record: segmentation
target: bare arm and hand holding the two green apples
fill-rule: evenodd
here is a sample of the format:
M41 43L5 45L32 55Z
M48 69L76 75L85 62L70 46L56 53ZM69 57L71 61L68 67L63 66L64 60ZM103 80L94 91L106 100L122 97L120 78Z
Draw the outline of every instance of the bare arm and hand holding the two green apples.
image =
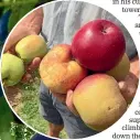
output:
M28 17L25 17L12 31L8 41L4 45L4 52L15 54L14 46L15 44L26 35L39 34L42 29L43 22L43 9L39 8ZM29 82L32 76L31 73L39 67L41 63L40 57L35 57L30 64L25 65L25 75L23 76L22 82Z

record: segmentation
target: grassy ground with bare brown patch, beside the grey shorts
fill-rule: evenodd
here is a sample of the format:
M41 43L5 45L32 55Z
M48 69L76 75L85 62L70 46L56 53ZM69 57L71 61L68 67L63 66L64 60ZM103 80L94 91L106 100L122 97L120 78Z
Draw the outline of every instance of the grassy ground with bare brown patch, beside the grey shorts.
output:
M35 73L34 78L28 84L19 84L17 87L10 87L10 91L6 89L7 97L24 122L35 130L46 133L49 123L39 112L39 86L40 76ZM67 138L65 130L61 132L61 138Z

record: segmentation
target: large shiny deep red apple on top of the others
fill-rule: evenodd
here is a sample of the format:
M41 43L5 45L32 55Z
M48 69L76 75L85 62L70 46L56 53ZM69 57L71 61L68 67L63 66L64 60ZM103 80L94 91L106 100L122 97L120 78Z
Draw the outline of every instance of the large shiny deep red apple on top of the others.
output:
M72 42L73 56L95 72L111 69L126 50L121 30L110 21L95 20L82 26Z

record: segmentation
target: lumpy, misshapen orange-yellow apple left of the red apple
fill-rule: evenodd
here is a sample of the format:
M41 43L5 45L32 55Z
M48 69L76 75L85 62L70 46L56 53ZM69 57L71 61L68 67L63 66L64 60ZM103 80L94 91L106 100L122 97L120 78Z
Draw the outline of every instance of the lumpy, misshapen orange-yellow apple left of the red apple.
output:
M73 61L69 45L58 44L43 57L40 76L52 93L66 94L87 76L87 71Z

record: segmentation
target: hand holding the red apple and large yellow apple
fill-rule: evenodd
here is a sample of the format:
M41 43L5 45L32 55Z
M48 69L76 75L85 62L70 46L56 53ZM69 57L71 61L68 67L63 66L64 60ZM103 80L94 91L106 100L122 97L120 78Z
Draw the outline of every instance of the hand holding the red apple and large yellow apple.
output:
M136 95L139 78L139 58L136 57L130 63L130 73L123 82L119 82L119 88L126 101L130 104ZM73 104L73 90L68 90L66 95L53 94L62 103L66 104L68 109L75 115L79 116Z

